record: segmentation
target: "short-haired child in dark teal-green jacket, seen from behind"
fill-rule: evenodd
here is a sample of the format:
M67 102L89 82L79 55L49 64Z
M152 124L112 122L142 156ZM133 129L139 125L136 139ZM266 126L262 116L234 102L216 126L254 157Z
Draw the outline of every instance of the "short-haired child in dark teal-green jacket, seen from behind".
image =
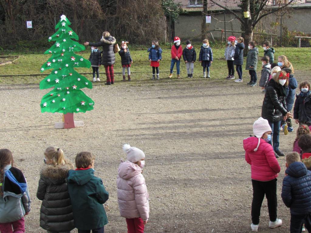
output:
M67 175L68 192L72 204L75 226L79 233L104 232L108 223L103 204L109 194L103 181L94 176L95 156L90 152L77 154L76 170L69 170Z

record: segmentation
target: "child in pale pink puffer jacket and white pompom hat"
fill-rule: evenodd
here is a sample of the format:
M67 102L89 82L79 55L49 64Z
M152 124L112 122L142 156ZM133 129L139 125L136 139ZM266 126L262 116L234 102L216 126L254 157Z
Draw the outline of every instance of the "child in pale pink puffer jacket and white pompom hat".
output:
M149 195L142 168L145 154L142 150L123 145L128 161L118 168L117 194L120 215L126 218L128 233L144 233L149 218Z

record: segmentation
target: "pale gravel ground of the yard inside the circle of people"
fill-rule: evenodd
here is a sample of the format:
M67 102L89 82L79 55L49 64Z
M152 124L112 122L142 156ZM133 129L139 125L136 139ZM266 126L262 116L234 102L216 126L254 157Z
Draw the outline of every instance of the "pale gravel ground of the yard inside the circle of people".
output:
M253 121L261 115L261 89L246 86L246 80L174 85L160 80L149 86L127 82L83 91L95 101L93 111L75 114L75 120L84 121L84 128L55 130L61 114L40 112L47 90L37 85L0 87L0 144L12 150L32 199L26 232L45 232L39 227L41 202L35 195L44 149L53 144L71 161L80 151L95 154L95 175L109 191L105 232L127 232L116 196L119 161L126 158L123 143L146 154L143 175L150 194L146 233L250 232L252 185L242 140L252 133ZM290 152L294 139L294 133L281 133L280 148ZM278 217L283 225L268 228L265 200L260 232L289 232L290 212L281 200L285 158L278 160Z

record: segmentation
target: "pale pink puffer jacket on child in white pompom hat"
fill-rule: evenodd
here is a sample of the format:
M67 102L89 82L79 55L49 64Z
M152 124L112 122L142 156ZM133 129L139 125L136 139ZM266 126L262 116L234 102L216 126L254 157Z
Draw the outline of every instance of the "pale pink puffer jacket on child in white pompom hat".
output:
M149 218L149 195L142 169L129 161L118 168L117 195L120 215L125 218Z

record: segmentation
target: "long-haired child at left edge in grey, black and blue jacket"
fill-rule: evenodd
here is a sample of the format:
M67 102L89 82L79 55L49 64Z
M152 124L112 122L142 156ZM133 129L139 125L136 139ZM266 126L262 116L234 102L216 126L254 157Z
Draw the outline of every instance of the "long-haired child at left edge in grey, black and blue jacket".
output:
M30 212L25 176L13 165L12 152L0 149L0 231L3 233L25 232L24 216Z

